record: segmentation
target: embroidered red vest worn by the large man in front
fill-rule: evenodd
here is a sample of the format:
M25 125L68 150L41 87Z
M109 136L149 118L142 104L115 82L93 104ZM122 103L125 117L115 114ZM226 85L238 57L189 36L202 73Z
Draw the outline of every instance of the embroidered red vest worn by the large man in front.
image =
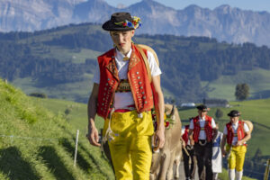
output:
M132 53L128 69L128 80L131 93L138 112L149 111L153 107L153 94L148 79L148 72L139 50L132 43ZM143 49L147 54L147 50ZM105 52L97 58L100 68L100 83L98 91L97 114L104 119L112 107L112 100L120 83L118 70L114 58L114 49Z

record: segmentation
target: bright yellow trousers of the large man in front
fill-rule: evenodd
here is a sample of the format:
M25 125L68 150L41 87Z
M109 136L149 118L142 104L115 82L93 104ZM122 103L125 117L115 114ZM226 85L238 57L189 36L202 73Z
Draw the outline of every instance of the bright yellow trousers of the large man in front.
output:
M109 120L103 127L103 136ZM113 112L109 141L112 164L117 180L148 180L152 161L151 136L154 133L151 112Z

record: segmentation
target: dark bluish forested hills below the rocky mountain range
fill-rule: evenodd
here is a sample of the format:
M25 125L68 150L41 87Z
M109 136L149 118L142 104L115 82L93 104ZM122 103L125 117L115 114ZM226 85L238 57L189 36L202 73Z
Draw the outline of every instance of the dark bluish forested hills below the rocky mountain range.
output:
M270 49L253 43L233 44L206 37L135 35L135 43L157 51L163 72L161 83L177 102L199 102L207 94L201 81L213 81L241 70L270 69ZM59 59L53 49L81 52L91 49L102 54L112 49L109 34L94 23L70 24L46 31L0 33L0 76L13 81L31 76L38 86L84 80L93 74L95 58L84 62ZM90 56L89 56L90 57Z

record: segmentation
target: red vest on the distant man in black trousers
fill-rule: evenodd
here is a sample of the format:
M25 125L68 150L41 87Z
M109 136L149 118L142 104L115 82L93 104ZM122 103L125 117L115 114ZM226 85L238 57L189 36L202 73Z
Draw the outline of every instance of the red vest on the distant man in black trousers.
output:
M196 116L193 119L193 140L195 142L199 141L199 135L200 135L200 121L199 121L199 116ZM211 128L211 117L208 115L205 115L205 124L204 124L204 130L205 130L205 134L206 134L206 139L208 142L211 141L212 138L212 128Z

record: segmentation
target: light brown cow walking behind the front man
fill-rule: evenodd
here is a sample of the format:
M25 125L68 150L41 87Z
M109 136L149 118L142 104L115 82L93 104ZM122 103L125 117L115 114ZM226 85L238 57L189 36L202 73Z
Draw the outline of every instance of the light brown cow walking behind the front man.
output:
M171 104L165 104L166 116L174 120L174 124L165 130L165 145L159 153L153 153L150 180L171 180L179 178L179 166L182 157L181 120L177 108Z

